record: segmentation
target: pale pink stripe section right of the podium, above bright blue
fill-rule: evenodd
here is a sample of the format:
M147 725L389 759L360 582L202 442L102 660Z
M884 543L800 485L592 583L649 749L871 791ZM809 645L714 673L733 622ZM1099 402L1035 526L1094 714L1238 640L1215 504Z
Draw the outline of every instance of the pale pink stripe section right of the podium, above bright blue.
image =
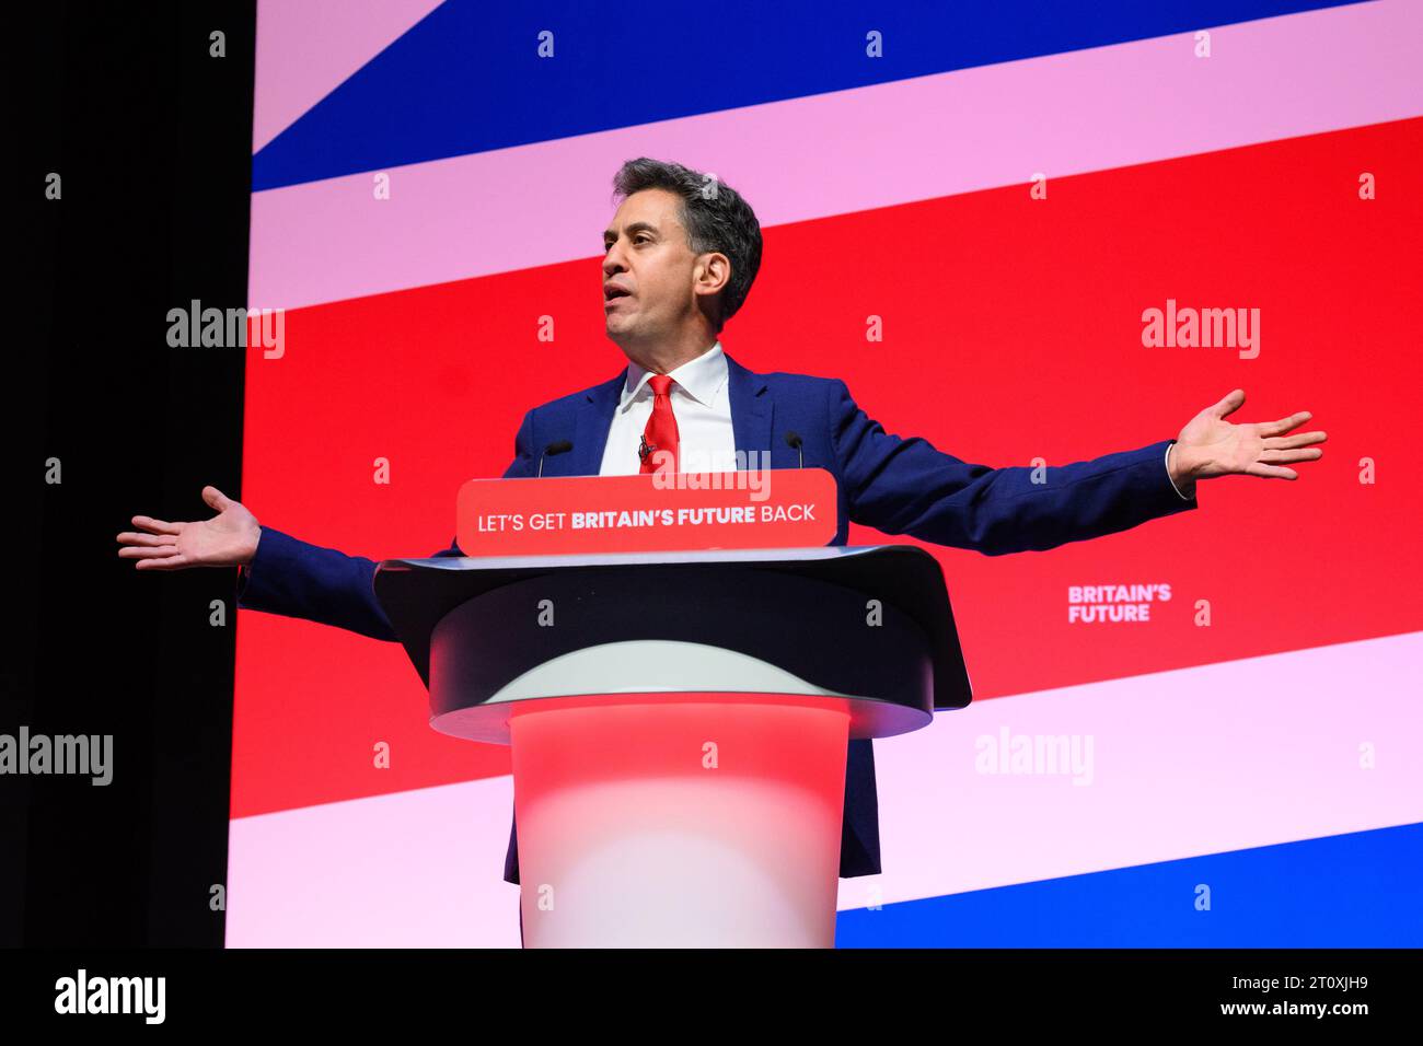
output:
M1420 662L1413 632L941 713L875 743L884 874L840 907L1423 821ZM978 773L1003 727L1090 734L1091 783Z

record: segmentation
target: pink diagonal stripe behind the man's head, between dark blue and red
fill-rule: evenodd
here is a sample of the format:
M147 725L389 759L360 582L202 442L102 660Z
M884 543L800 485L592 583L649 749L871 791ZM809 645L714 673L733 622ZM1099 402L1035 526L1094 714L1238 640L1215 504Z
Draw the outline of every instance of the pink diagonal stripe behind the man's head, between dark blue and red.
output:
M1423 4L1387 0L270 189L253 307L295 309L598 253L623 159L676 158L763 225L1423 114Z

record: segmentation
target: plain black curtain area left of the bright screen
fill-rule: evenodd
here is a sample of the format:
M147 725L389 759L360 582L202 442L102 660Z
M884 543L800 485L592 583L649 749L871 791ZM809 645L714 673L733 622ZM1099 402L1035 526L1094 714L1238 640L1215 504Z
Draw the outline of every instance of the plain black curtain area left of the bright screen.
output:
M112 783L0 776L0 942L221 946L235 572L135 572L114 535L242 497L243 350L171 349L166 315L246 305L255 3L10 14L0 733L111 734Z

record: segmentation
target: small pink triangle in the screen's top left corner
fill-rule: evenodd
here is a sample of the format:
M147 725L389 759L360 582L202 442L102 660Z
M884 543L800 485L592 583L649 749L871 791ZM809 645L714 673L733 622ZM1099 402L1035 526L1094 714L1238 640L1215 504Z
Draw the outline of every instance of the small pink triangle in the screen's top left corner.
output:
M252 151L438 7L441 0L260 0Z

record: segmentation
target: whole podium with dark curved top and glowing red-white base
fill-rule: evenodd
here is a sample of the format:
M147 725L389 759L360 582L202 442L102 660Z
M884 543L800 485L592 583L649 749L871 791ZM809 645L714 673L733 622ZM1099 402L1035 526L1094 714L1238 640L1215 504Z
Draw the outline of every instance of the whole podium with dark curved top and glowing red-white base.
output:
M391 559L374 588L431 726L512 747L525 946L832 946L847 743L972 694L915 545Z

